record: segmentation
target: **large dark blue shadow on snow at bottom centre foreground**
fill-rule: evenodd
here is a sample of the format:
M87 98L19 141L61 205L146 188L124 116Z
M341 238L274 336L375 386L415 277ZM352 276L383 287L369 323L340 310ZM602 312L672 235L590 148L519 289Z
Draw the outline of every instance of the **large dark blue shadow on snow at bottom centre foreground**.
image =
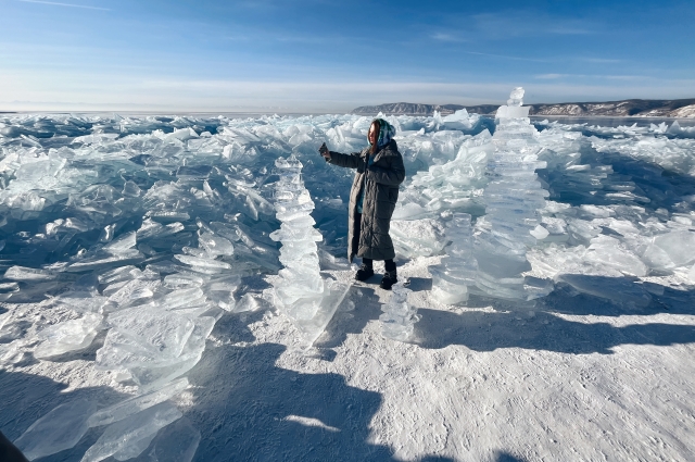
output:
M189 374L201 432L195 461L389 461L368 441L381 405L378 392L351 387L338 374L278 367L277 344L208 348Z

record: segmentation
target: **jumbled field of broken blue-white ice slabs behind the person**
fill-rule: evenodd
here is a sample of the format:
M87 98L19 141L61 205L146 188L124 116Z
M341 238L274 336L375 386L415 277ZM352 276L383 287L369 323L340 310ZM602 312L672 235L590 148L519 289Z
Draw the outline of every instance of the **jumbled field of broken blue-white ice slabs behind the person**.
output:
M489 164L494 137L504 137L510 147L533 140L536 164L520 172L538 175L549 195L522 226L533 232L525 236L525 291L555 284L644 307L655 290L645 277L695 284L692 127L544 121L516 126L521 133L465 111L387 118L408 175L394 213L399 258L446 253L442 274L465 279L466 241L454 240L469 232L451 225L467 213L482 232L500 217L489 205L508 200L508 190L491 196ZM33 358L72 360L91 347L93 366L134 390L109 405L72 402L38 415L20 446L52 453L93 425L106 437L89 458L131 457L114 446L121 436L132 438L129 448L147 442L169 459L176 455L167 448L185 453L180 460L192 457L200 435L184 420L154 437L178 416L161 405L185 389L216 320L258 307L248 294L237 304L241 278L283 266L269 237L280 228L275 161L293 154L303 164L323 236L317 259L339 265L352 172L327 165L316 148L326 140L331 150L359 150L369 123L356 115L0 117L0 363L11 370ZM465 299L452 295L458 299L441 301ZM41 303L41 315L29 302ZM75 432L61 433L62 420ZM180 448L166 444L179 434Z

